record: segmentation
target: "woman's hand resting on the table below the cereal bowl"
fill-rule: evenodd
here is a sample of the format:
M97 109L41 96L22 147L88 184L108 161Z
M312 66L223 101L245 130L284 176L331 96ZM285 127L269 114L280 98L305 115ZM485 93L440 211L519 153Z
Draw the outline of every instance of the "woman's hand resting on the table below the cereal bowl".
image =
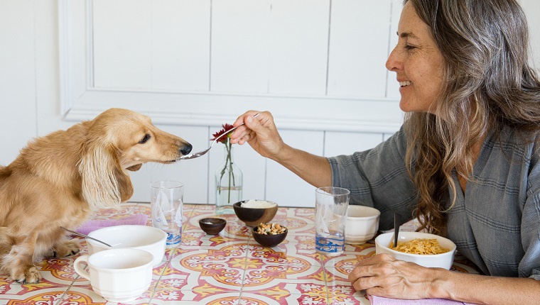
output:
M349 280L355 289L366 289L367 294L393 299L426 299L437 297L433 296L432 285L439 272L448 270L426 268L379 254L360 260L350 272Z

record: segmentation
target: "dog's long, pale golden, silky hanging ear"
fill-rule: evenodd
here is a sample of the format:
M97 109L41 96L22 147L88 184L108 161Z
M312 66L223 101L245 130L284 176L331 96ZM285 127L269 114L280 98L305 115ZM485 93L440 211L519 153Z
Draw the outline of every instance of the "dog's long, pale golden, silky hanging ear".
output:
M111 143L86 143L79 172L82 196L92 209L118 207L133 195L129 174L120 166L118 149Z

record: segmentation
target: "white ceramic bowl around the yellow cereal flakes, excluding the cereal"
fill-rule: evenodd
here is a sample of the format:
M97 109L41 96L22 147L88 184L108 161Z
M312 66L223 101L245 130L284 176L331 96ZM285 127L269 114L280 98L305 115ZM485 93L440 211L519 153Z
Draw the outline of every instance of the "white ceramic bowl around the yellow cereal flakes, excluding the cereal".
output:
M442 254L420 255L392 250L388 248L388 245L390 244L390 242L394 242L394 232L389 232L381 234L377 236L377 238L375 238L375 253L387 253L389 255L392 255L392 257L395 257L397 260L415 262L416 264L423 267L439 267L447 270L452 267L455 254L455 243L453 243L452 240L449 240L448 238L443 238L435 234L423 232L399 232L398 234L398 241L402 243L413 240L414 238L436 238L441 247L447 248L450 251Z

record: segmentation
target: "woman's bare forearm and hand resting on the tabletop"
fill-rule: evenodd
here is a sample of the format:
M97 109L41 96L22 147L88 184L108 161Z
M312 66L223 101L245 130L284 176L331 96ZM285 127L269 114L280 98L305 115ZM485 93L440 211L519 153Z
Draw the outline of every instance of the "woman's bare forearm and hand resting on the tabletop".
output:
M349 280L357 290L393 299L441 298L474 304L538 304L540 282L426 268L375 255L358 262Z

